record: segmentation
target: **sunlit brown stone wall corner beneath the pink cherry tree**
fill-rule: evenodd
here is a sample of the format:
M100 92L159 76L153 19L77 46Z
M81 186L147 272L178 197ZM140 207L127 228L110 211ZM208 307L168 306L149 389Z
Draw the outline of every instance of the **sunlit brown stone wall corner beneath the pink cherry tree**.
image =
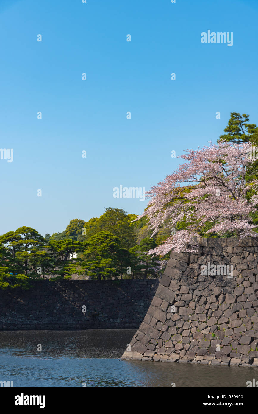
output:
M196 242L196 254L170 254L122 359L258 366L258 238Z

